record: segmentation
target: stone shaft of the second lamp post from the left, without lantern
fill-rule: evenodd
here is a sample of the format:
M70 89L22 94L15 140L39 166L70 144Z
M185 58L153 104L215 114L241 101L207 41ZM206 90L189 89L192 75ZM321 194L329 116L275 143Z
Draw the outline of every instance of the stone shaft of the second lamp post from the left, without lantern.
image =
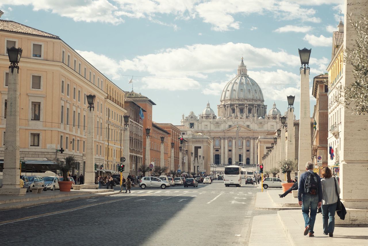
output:
M93 189L98 187L95 184L95 109L87 109L87 132L86 132L86 166L84 185L82 188Z

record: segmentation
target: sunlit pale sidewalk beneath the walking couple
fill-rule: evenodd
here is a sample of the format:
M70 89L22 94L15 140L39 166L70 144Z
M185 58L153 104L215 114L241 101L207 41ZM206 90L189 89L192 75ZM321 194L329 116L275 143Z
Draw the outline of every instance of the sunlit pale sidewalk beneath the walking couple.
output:
M291 246L368 246L367 227L335 226L333 237L323 234L322 214L317 214L314 224L314 237L304 236L304 219L301 210L278 211L277 216ZM335 216L338 218L338 216Z

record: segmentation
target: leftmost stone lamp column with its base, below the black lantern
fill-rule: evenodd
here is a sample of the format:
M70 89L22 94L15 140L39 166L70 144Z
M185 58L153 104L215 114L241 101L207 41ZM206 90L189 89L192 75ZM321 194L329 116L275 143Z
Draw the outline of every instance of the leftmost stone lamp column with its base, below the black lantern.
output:
M25 195L26 189L19 187L19 84L18 69L9 68L7 119L4 138L3 188L0 195Z

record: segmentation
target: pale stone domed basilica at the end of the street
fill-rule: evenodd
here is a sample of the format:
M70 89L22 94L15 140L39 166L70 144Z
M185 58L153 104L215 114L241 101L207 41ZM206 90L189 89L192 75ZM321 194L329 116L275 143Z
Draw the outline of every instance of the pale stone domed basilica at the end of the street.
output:
M281 127L281 112L273 104L267 111L259 85L248 76L241 58L237 75L224 87L217 105L217 115L208 102L198 116L192 111L182 116L183 137L206 136L210 139L208 164L257 164L259 136L274 134ZM184 131L187 129L187 131ZM201 159L201 149L189 142L194 162Z

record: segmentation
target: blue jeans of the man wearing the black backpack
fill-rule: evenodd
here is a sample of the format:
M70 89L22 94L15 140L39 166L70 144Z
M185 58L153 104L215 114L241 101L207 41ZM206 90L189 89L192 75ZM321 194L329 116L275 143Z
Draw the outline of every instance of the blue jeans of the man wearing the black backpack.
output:
M316 221L317 207L318 207L318 195L302 195L302 206L301 210L303 212L303 217L305 221L305 226L310 225L309 232L314 233L313 227ZM309 216L310 209L310 216Z

